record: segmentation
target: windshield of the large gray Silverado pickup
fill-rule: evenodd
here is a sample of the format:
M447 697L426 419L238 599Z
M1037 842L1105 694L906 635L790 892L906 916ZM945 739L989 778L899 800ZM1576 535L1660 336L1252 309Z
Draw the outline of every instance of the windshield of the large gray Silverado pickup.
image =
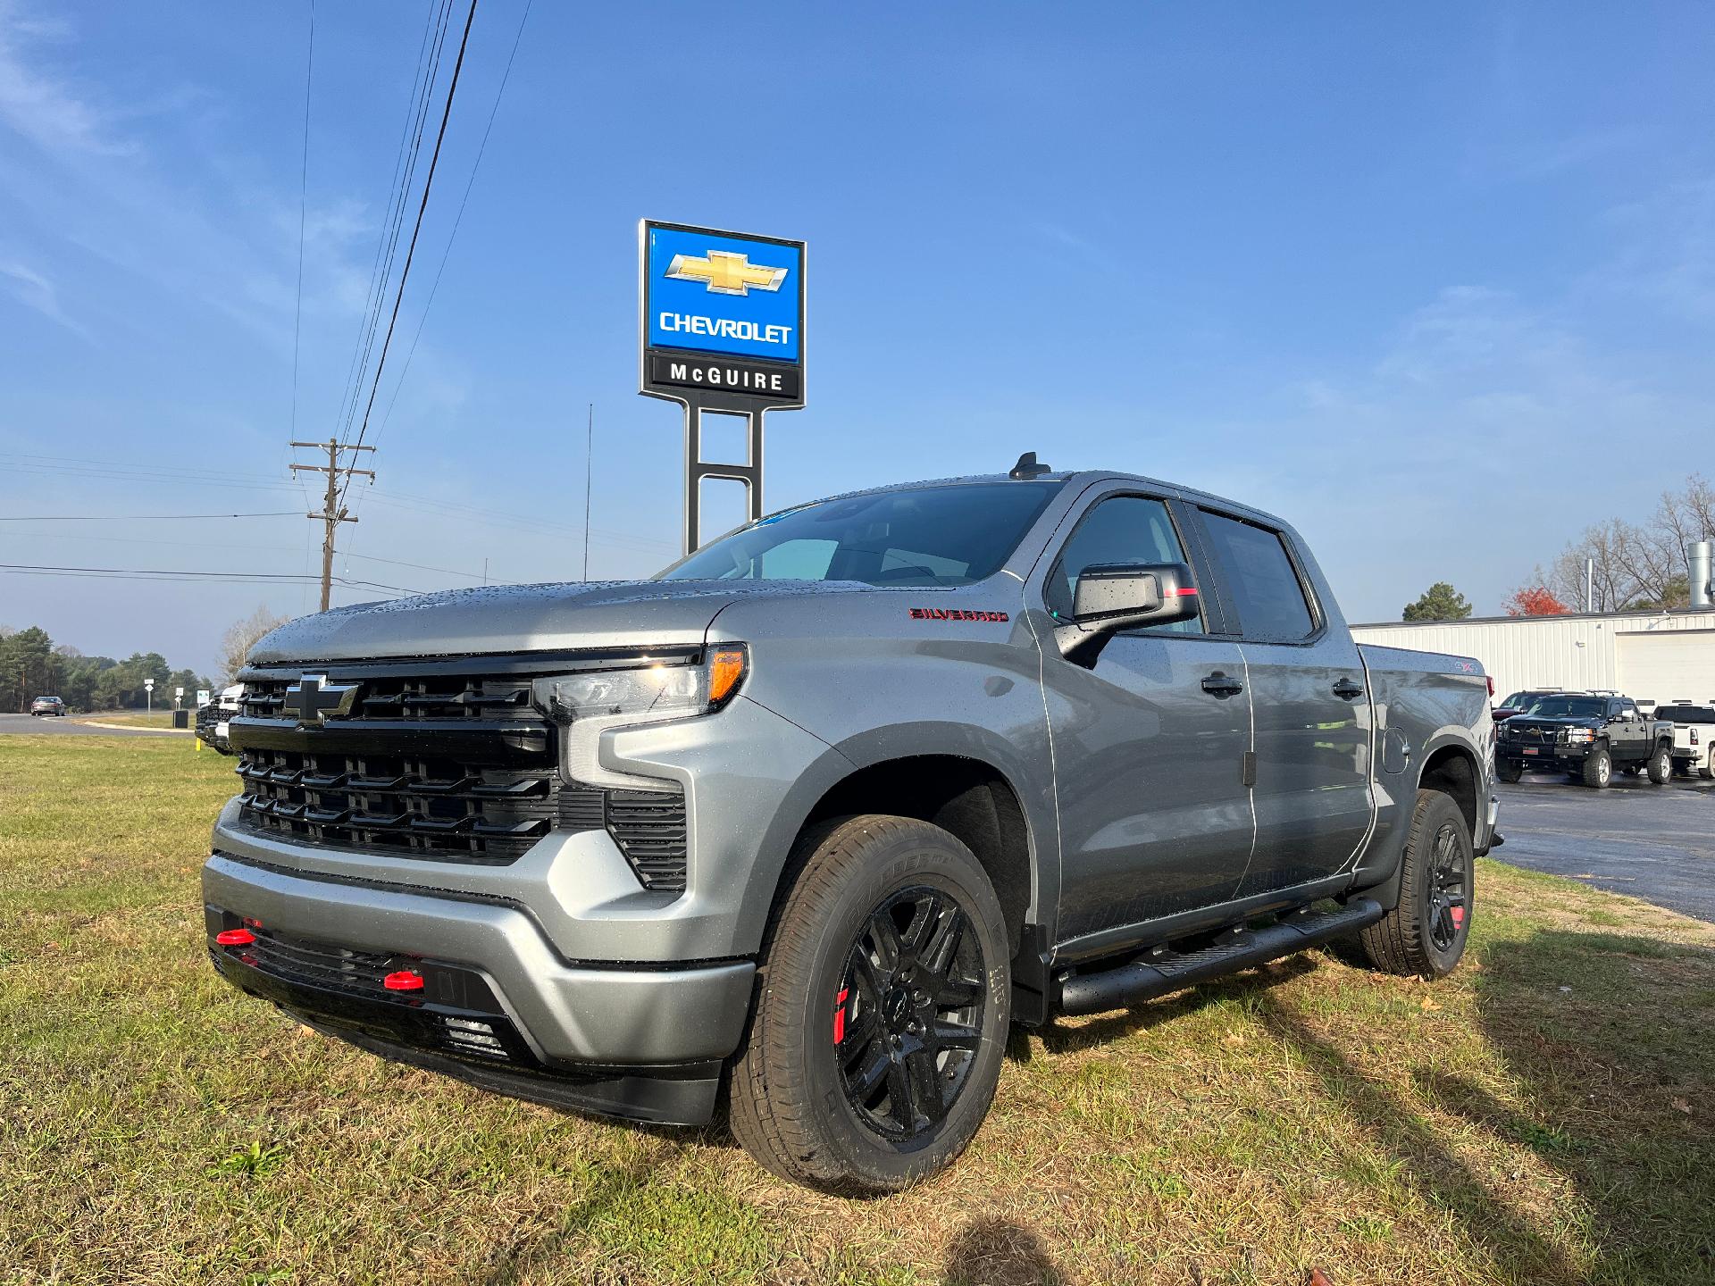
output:
M971 482L816 501L729 532L655 580L972 585L993 576L1060 482Z

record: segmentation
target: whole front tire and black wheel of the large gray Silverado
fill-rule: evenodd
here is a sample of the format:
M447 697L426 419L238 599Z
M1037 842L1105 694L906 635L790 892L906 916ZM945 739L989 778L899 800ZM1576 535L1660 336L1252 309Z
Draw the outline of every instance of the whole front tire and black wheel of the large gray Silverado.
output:
M899 1192L988 1115L1012 1019L1000 900L940 826L866 814L811 835L763 940L732 1133L827 1192Z

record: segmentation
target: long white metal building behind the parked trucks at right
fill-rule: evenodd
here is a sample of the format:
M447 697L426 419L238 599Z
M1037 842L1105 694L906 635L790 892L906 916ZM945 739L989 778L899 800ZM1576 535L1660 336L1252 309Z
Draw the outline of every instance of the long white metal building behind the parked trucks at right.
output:
M1640 705L1715 705L1715 612L1497 616L1353 626L1360 643L1475 657L1495 696L1519 688L1610 688Z

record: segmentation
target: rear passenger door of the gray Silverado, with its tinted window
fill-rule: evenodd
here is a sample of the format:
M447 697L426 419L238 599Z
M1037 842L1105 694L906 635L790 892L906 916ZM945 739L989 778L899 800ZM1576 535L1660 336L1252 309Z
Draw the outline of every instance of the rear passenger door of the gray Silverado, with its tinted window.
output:
M1240 897L1346 868L1374 816L1370 706L1358 645L1331 629L1291 540L1252 518L1197 511L1237 617L1255 720L1255 856Z

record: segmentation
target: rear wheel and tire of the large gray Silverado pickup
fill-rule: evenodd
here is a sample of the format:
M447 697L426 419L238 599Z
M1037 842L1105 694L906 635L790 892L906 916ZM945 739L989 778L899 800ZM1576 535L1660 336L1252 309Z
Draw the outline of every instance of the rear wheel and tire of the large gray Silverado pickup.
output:
M1446 977L1471 931L1477 864L1470 825L1453 796L1417 792L1399 862L1399 902L1358 933L1358 945L1384 974Z

